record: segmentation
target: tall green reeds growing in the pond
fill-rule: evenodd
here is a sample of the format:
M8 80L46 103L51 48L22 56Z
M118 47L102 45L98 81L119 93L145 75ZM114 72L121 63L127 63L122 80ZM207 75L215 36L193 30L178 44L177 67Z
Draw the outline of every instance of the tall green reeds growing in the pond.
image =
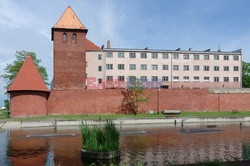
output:
M120 134L111 120L107 120L104 128L87 124L81 126L82 148L93 152L109 152L119 149Z

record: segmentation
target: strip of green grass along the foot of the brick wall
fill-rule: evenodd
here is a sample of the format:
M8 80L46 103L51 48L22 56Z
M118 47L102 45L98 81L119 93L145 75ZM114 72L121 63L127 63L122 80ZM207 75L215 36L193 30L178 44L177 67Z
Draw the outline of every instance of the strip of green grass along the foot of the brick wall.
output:
M199 118L218 118L218 117L250 117L249 112L182 112L178 117L199 117ZM31 118L7 118L7 114L3 113L0 115L0 120L8 121L36 121L36 120L105 120L105 119L158 119L166 118L162 114L106 114L106 115L48 115L40 117L31 117Z

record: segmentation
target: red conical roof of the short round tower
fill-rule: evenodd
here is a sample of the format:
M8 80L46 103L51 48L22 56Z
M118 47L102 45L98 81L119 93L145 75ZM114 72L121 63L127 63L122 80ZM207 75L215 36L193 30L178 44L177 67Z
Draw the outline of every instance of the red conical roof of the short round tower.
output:
M16 78L10 85L8 92L11 91L44 91L49 92L42 76L38 72L33 60L27 57Z

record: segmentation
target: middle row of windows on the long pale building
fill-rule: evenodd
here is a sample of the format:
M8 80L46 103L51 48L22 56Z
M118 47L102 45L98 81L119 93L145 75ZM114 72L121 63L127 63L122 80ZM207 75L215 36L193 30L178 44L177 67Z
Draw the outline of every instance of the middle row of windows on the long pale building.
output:
M158 70L159 65L151 65L152 70ZM124 64L118 64L117 65L118 70L125 70L125 65ZM224 71L229 71L229 66L223 66ZM107 70L113 70L113 64L106 64L106 69ZM141 70L147 70L147 65L146 64L141 64L140 65ZM162 70L168 70L168 65L162 65ZM179 65L173 65L173 70L178 71L180 69ZM136 70L136 64L129 64L129 70ZM189 71L190 67L189 65L184 65L183 66L184 71ZM200 66L199 65L194 65L193 66L194 71L200 71ZM204 71L209 71L210 66L203 66ZM214 71L220 71L220 66L213 66ZM98 66L98 71L102 71L102 66ZM239 71L239 66L233 66L233 71Z

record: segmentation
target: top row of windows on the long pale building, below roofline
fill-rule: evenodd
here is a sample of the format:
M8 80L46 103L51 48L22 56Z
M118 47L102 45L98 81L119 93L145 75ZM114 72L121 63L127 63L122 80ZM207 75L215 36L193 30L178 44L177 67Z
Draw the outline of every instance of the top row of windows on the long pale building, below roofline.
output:
M125 57L124 52L118 52L117 56L118 56L118 58L124 58ZM212 55L203 55L203 59L204 60L209 60L211 56ZM147 53L146 52L141 52L140 57L141 58L147 58ZM175 53L173 54L173 59L179 59L179 57L180 57L179 54L175 54ZM201 59L200 57L201 57L201 55L199 55L199 54L194 54L193 55L194 60L200 60ZM107 52L107 58L113 58L113 52ZM130 52L129 53L129 58L136 58L136 53L135 52ZM151 53L151 58L152 59L158 59L158 53ZM98 59L99 60L102 59L101 55L98 56ZM162 53L162 59L169 59L168 53ZM189 60L190 55L189 54L184 54L183 59ZM213 59L214 60L220 60L220 56L219 55L213 55ZM223 60L229 60L229 55L224 55ZM238 61L239 56L234 55L233 60Z

